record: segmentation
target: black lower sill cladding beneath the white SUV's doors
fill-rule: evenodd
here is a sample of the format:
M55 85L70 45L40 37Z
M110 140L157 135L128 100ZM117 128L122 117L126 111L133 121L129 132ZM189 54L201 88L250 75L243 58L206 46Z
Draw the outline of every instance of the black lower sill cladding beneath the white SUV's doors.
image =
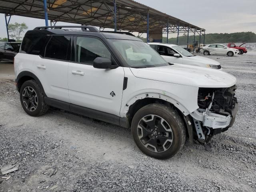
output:
M73 112L73 113L80 114L80 115L83 115L86 117L98 119L98 120L112 123L115 125L119 125L122 127L128 127L128 125L129 125L127 119L120 118L119 116L116 116L113 114L109 114L109 113L101 112L98 110L70 104L67 102L63 102L63 101L48 98L48 97L45 97L44 99L45 99L46 104L49 106L52 106L52 107L56 107L59 109L63 109L63 110L69 111L69 112Z

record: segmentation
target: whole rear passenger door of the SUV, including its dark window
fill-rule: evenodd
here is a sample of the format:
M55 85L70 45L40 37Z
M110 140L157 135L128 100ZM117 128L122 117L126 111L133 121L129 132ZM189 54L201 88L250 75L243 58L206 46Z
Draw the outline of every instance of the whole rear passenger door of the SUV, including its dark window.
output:
M44 92L49 98L69 102L68 64L71 50L70 36L50 36L42 57L34 66Z

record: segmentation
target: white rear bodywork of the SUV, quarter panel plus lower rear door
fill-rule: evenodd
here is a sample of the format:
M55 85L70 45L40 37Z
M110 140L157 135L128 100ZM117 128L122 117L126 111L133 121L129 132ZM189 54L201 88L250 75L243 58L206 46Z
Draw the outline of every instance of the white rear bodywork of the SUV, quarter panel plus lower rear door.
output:
M38 77L49 98L70 102L68 97L68 62L41 58L38 55L18 53L14 65L16 77L22 71Z

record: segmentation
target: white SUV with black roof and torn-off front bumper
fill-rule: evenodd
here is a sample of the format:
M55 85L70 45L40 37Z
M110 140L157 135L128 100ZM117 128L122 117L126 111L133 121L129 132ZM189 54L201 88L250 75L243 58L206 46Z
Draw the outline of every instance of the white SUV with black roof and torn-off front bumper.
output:
M162 159L186 138L205 143L234 123L234 76L170 65L132 35L80 28L38 27L24 36L14 70L29 115L54 106L131 127L140 150Z

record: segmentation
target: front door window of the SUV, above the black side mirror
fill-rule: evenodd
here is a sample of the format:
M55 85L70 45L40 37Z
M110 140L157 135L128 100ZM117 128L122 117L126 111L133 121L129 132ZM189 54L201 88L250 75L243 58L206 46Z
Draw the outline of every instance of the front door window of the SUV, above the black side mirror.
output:
M76 62L93 64L93 60L97 57L107 57L111 59L111 54L99 39L77 37Z

